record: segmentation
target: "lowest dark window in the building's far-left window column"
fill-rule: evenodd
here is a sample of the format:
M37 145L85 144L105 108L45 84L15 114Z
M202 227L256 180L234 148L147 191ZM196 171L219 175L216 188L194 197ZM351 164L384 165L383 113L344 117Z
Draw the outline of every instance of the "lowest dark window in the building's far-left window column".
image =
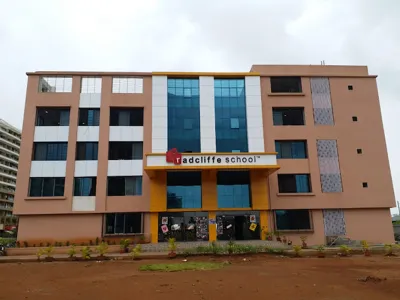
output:
M42 178L32 177L29 182L30 197L61 197L64 196L64 177Z

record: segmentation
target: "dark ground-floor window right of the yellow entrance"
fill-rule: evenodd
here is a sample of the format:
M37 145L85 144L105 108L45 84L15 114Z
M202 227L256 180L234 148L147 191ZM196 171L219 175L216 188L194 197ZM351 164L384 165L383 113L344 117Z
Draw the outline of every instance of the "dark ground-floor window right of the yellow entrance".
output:
M308 209L275 211L275 228L281 230L312 230L311 215Z

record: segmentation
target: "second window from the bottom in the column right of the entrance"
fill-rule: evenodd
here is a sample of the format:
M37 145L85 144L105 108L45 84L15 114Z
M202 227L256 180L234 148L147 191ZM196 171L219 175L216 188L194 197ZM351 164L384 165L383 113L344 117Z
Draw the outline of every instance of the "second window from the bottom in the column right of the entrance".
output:
M278 174L279 193L310 193L309 174Z

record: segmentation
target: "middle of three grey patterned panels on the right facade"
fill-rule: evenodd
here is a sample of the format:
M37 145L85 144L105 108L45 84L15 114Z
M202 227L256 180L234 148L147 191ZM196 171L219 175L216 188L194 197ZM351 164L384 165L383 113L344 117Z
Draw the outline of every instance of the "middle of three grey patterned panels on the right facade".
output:
M317 140L317 153L322 192L342 192L342 176L336 140Z

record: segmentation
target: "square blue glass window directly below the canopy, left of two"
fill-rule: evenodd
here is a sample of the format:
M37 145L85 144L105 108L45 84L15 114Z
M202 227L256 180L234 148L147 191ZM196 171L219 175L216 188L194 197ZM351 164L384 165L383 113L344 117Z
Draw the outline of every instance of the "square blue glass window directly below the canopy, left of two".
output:
M167 173L167 208L201 208L201 172Z

